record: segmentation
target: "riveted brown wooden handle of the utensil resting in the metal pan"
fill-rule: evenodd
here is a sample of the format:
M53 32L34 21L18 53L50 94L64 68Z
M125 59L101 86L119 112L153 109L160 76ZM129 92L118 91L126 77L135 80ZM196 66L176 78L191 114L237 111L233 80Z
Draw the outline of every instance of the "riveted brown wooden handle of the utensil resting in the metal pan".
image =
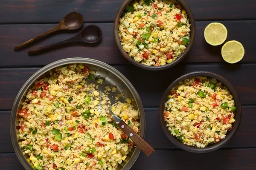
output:
M146 154L150 156L155 150L147 142L144 141L132 128L124 121L119 122L118 127Z

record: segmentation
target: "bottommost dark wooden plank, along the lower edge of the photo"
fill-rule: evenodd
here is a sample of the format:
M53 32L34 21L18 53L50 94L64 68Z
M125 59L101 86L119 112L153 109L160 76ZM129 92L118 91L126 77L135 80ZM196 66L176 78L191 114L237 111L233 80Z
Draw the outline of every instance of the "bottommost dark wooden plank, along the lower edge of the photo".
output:
M256 149L217 150L189 153L184 150L157 150L150 157L142 152L131 170L255 170ZM207 158L207 159L206 159ZM1 170L25 170L15 153L0 154Z

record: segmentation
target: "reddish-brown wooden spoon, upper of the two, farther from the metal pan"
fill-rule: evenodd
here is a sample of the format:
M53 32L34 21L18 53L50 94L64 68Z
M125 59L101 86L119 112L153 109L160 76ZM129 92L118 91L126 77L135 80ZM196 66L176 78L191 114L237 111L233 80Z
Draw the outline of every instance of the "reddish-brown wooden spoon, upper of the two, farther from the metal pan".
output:
M20 48L28 45L31 42L34 42L35 40L38 40L39 38L42 38L52 32L58 31L58 30L74 30L80 28L84 24L84 18L83 16L76 11L68 13L60 23L58 23L57 26L53 27L52 29L38 35L35 38L32 38L31 40L28 40L24 42L23 44L18 45L14 48L14 51L19 50Z

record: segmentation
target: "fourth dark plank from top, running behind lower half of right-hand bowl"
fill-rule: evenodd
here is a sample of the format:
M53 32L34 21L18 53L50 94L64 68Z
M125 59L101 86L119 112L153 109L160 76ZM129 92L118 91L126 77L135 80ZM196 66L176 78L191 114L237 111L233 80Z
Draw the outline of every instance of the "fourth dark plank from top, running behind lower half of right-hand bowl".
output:
M256 147L256 106L242 107L242 121L236 135L228 142L224 148L248 148ZM13 153L11 137L9 135L10 111L0 111L0 153ZM154 149L177 149L160 126L158 108L145 108L146 115L146 134L145 141ZM143 154L143 153L142 153ZM154 155L154 153L152 154Z

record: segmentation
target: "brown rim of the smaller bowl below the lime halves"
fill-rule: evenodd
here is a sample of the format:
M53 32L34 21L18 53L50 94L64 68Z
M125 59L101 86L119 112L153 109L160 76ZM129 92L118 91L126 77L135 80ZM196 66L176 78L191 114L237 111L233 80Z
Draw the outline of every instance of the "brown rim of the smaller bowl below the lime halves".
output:
M172 88L174 88L175 85L177 85L177 83L183 81L184 79L194 77L194 76L207 76L207 77L212 77L212 78L217 79L218 82L221 82L223 85L225 85L228 88L230 93L233 95L233 100L236 103L236 114L235 114L236 122L233 124L232 130L230 130L228 132L227 136L224 139L222 139L220 142L218 142L216 144L208 145L207 147L204 147L204 148L192 147L192 146L188 146L186 144L181 143L175 136L173 136L169 132L168 128L166 127L166 122L164 121L164 116L163 116L164 103L166 101L166 98L167 98L169 92L172 90ZM239 128L239 125L240 125L240 122L241 122L241 117L242 117L241 102L240 102L238 94L236 93L236 90L233 88L233 85L231 85L230 82L228 82L227 79L225 79L224 77L222 77L218 74L215 74L213 72L209 72L209 71L190 72L188 74L184 74L183 76L175 79L164 91L163 96L162 96L161 101L160 101L160 105L159 105L160 124L161 124L161 127L162 127L164 133L168 137L168 139L172 143L174 143L177 147L180 147L183 150L193 152L193 153L211 152L211 151L217 150L217 149L221 148L222 146L224 146L225 144L227 144L227 142L229 142L230 139L237 132L237 130Z

